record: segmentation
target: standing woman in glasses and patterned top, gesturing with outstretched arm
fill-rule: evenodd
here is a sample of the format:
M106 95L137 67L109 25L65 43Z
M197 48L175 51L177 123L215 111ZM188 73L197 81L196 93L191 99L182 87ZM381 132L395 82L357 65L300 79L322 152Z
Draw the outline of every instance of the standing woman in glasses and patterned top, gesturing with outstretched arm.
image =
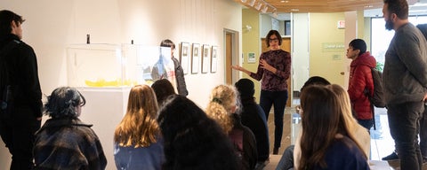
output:
M274 106L274 148L273 154L278 154L282 142L283 115L287 100L287 79L291 75L291 54L280 49L282 36L277 30L270 30L265 43L270 48L260 56L260 63L256 73L246 70L242 66L231 68L244 72L257 81L261 81L260 105L269 119L271 106Z

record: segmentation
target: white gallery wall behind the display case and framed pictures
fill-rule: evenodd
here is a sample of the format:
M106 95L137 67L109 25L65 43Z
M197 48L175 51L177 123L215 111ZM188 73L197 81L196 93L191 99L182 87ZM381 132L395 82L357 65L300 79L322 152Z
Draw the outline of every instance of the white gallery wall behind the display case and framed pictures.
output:
M86 34L91 35L92 43L133 40L158 45L165 38L177 45L197 42L217 45L223 54L223 29L239 35L242 29L241 6L230 0L2 0L0 6L0 10L17 12L26 19L23 41L36 50L44 94L67 85L65 49L68 44L85 43ZM241 37L238 39L241 44ZM237 48L241 51L240 45ZM224 82L224 70L220 56L216 73L187 74L189 98L204 108L210 90ZM7 154L0 147L0 169L9 166ZM111 165L114 162L109 161L109 169Z

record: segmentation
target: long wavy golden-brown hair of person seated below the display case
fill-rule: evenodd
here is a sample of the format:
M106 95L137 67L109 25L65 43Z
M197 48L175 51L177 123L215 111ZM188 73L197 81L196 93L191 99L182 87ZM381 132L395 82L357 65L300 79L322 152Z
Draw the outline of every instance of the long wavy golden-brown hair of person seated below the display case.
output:
M147 147L157 142L157 98L147 85L136 85L129 93L127 111L114 133L120 146Z

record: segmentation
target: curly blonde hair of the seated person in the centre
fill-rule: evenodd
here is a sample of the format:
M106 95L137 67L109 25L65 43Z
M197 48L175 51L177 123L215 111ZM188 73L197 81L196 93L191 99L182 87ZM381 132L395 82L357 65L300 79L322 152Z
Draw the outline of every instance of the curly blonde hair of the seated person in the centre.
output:
M209 97L206 114L215 120L226 134L229 134L233 128L231 114L238 111L238 103L238 90L234 86L216 86Z

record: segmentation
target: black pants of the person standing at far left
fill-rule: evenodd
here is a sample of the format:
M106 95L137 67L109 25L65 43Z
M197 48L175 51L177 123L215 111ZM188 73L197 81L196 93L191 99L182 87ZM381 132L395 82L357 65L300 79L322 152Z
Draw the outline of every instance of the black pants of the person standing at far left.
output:
M24 170L33 167L34 134L40 128L28 108L15 108L10 115L0 117L0 135L12 154L11 170Z

